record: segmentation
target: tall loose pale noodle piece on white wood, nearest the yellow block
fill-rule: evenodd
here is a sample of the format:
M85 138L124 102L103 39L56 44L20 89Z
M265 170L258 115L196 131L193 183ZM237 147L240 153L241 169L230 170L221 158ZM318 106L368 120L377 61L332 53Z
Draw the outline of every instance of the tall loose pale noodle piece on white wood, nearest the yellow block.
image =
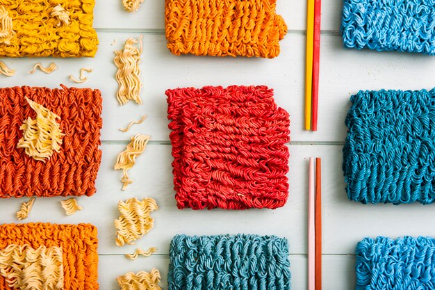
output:
M115 51L113 62L118 68L115 79L118 83L116 98L120 105L126 104L129 100L142 104L140 99L140 54L142 54L142 36L139 39L140 49L136 47L138 40L129 38L126 40L124 49Z

